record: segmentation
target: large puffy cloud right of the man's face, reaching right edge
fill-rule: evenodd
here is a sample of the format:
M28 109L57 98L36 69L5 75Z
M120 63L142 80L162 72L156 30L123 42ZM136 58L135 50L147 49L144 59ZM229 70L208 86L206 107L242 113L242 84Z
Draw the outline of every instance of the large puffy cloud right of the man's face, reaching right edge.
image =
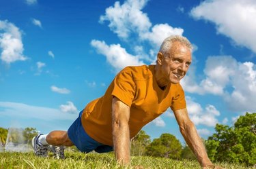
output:
M185 77L184 90L222 96L231 111L255 111L256 66L253 62L238 62L232 56L210 56L204 73L205 78L199 83L194 73Z

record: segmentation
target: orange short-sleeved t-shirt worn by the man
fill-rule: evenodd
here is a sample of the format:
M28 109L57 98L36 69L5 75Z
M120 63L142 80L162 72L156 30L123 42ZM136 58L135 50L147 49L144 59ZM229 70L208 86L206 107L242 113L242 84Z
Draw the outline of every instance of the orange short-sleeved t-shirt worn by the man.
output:
M186 108L184 91L180 84L159 88L154 74L155 65L126 67L112 81L106 93L85 107L82 125L91 138L104 145L113 146L112 98L122 100L130 107L130 138L169 107L173 111Z

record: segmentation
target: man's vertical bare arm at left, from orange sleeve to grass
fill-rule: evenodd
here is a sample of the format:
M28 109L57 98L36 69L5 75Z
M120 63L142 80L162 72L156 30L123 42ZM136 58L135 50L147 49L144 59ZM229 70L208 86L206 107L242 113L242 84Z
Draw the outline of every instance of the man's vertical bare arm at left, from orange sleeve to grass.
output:
M120 164L130 163L130 107L121 100L112 100L112 129L115 158Z

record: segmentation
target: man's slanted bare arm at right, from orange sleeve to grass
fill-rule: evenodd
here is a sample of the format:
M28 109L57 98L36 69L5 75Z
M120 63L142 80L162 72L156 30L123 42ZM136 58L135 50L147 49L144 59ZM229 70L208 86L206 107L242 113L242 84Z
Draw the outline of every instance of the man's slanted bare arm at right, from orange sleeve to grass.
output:
M180 126L180 132L182 133L182 136L186 140L186 143L188 144L190 149L192 149L201 166L203 168L214 168L214 165L208 158L203 142L197 134L195 125L188 117L187 109L180 109L174 111L174 115L177 123Z

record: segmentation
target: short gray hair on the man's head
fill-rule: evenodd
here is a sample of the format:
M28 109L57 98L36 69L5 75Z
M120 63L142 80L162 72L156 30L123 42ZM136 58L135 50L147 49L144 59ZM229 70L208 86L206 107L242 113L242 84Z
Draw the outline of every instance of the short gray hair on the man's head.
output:
M162 42L159 52L161 52L164 55L169 54L171 45L176 41L182 43L182 45L185 45L190 51L193 50L193 46L191 45L190 41L186 39L186 37L182 37L181 35L172 35L170 37L167 37Z

